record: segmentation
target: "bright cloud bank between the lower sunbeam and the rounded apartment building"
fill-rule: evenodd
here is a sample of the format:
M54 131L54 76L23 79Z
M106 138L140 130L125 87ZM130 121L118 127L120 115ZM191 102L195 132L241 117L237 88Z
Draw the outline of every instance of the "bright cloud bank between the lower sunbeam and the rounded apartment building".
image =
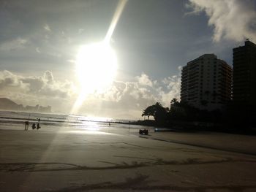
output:
M151 83L148 83L148 80ZM142 73L134 77L132 82L116 81L105 93L88 96L80 107L80 113L137 119L146 107L157 101L169 107L171 99L179 99L180 85L181 70L178 75L165 77L159 81L151 80L147 74Z

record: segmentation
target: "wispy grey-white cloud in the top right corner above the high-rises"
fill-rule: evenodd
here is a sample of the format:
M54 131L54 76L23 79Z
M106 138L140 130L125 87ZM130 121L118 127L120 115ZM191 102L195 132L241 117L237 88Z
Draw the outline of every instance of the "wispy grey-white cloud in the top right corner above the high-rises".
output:
M214 26L214 41L221 39L244 41L249 38L256 41L255 1L250 0L189 0L187 15L206 12L208 25Z

